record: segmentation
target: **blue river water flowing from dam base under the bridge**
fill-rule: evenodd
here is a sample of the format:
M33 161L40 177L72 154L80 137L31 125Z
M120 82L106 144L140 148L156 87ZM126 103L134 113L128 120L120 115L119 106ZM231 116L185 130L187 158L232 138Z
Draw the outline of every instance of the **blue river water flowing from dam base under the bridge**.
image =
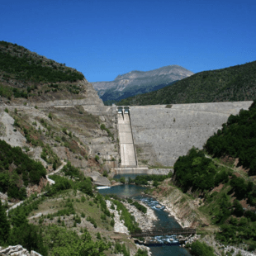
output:
M130 176L129 176L130 177ZM116 178L116 177L115 177ZM120 177L119 177L120 178ZM127 178L127 175L126 175ZM130 177L131 178L131 177ZM154 221L155 228L180 228L181 226L178 222L171 216L168 216L168 212L164 211L164 206L158 208L159 202L153 199L152 197L141 196L146 187L140 187L135 185L121 185L115 186L107 189L100 189L99 192L102 195L115 194L118 197L130 197L140 201L143 201L151 209L154 210L155 215L158 217L158 220ZM170 238L173 239L173 242L170 242ZM175 236L158 236L154 237L158 240L158 246L154 244L149 245L152 252L152 256L188 256L191 255L188 253L187 249L179 247L178 240Z

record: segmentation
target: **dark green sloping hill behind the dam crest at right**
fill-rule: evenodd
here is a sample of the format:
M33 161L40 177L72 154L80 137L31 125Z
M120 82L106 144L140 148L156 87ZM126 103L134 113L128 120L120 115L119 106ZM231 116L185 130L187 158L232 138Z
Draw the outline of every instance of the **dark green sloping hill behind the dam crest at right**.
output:
M239 102L256 97L256 61L195 73L156 92L129 97L116 105Z

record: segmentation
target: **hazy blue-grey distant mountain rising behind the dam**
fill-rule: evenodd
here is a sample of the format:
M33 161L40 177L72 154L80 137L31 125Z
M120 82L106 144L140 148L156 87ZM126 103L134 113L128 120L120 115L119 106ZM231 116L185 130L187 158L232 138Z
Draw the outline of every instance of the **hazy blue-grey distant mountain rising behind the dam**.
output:
M191 71L178 65L169 65L146 72L131 71L118 75L114 81L94 82L92 85L104 102L117 102L126 97L164 88L192 74Z

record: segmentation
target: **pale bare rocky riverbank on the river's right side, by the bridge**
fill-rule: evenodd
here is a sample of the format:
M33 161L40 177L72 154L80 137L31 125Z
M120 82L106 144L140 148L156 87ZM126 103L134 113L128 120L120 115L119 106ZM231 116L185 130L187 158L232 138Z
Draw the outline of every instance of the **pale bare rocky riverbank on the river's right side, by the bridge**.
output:
M254 256L256 253L248 252L245 250L243 244L238 245L237 247L231 245L220 244L215 239L214 232L219 231L219 227L212 226L210 221L206 219L206 216L198 210L198 207L201 205L200 198L193 199L192 197L187 196L177 187L172 185L167 185L165 181L162 186L159 186L157 189L152 192L152 196L165 206L164 211L168 212L169 216L173 218L184 227L197 228L198 226L204 225L205 232L209 231L208 235L203 235L200 238L197 237L201 242L206 243L214 249L216 255L223 255L230 252L232 255L241 254L243 256ZM166 186L167 185L167 186ZM191 238L184 238L180 240L185 244L191 244L194 240L194 236Z

